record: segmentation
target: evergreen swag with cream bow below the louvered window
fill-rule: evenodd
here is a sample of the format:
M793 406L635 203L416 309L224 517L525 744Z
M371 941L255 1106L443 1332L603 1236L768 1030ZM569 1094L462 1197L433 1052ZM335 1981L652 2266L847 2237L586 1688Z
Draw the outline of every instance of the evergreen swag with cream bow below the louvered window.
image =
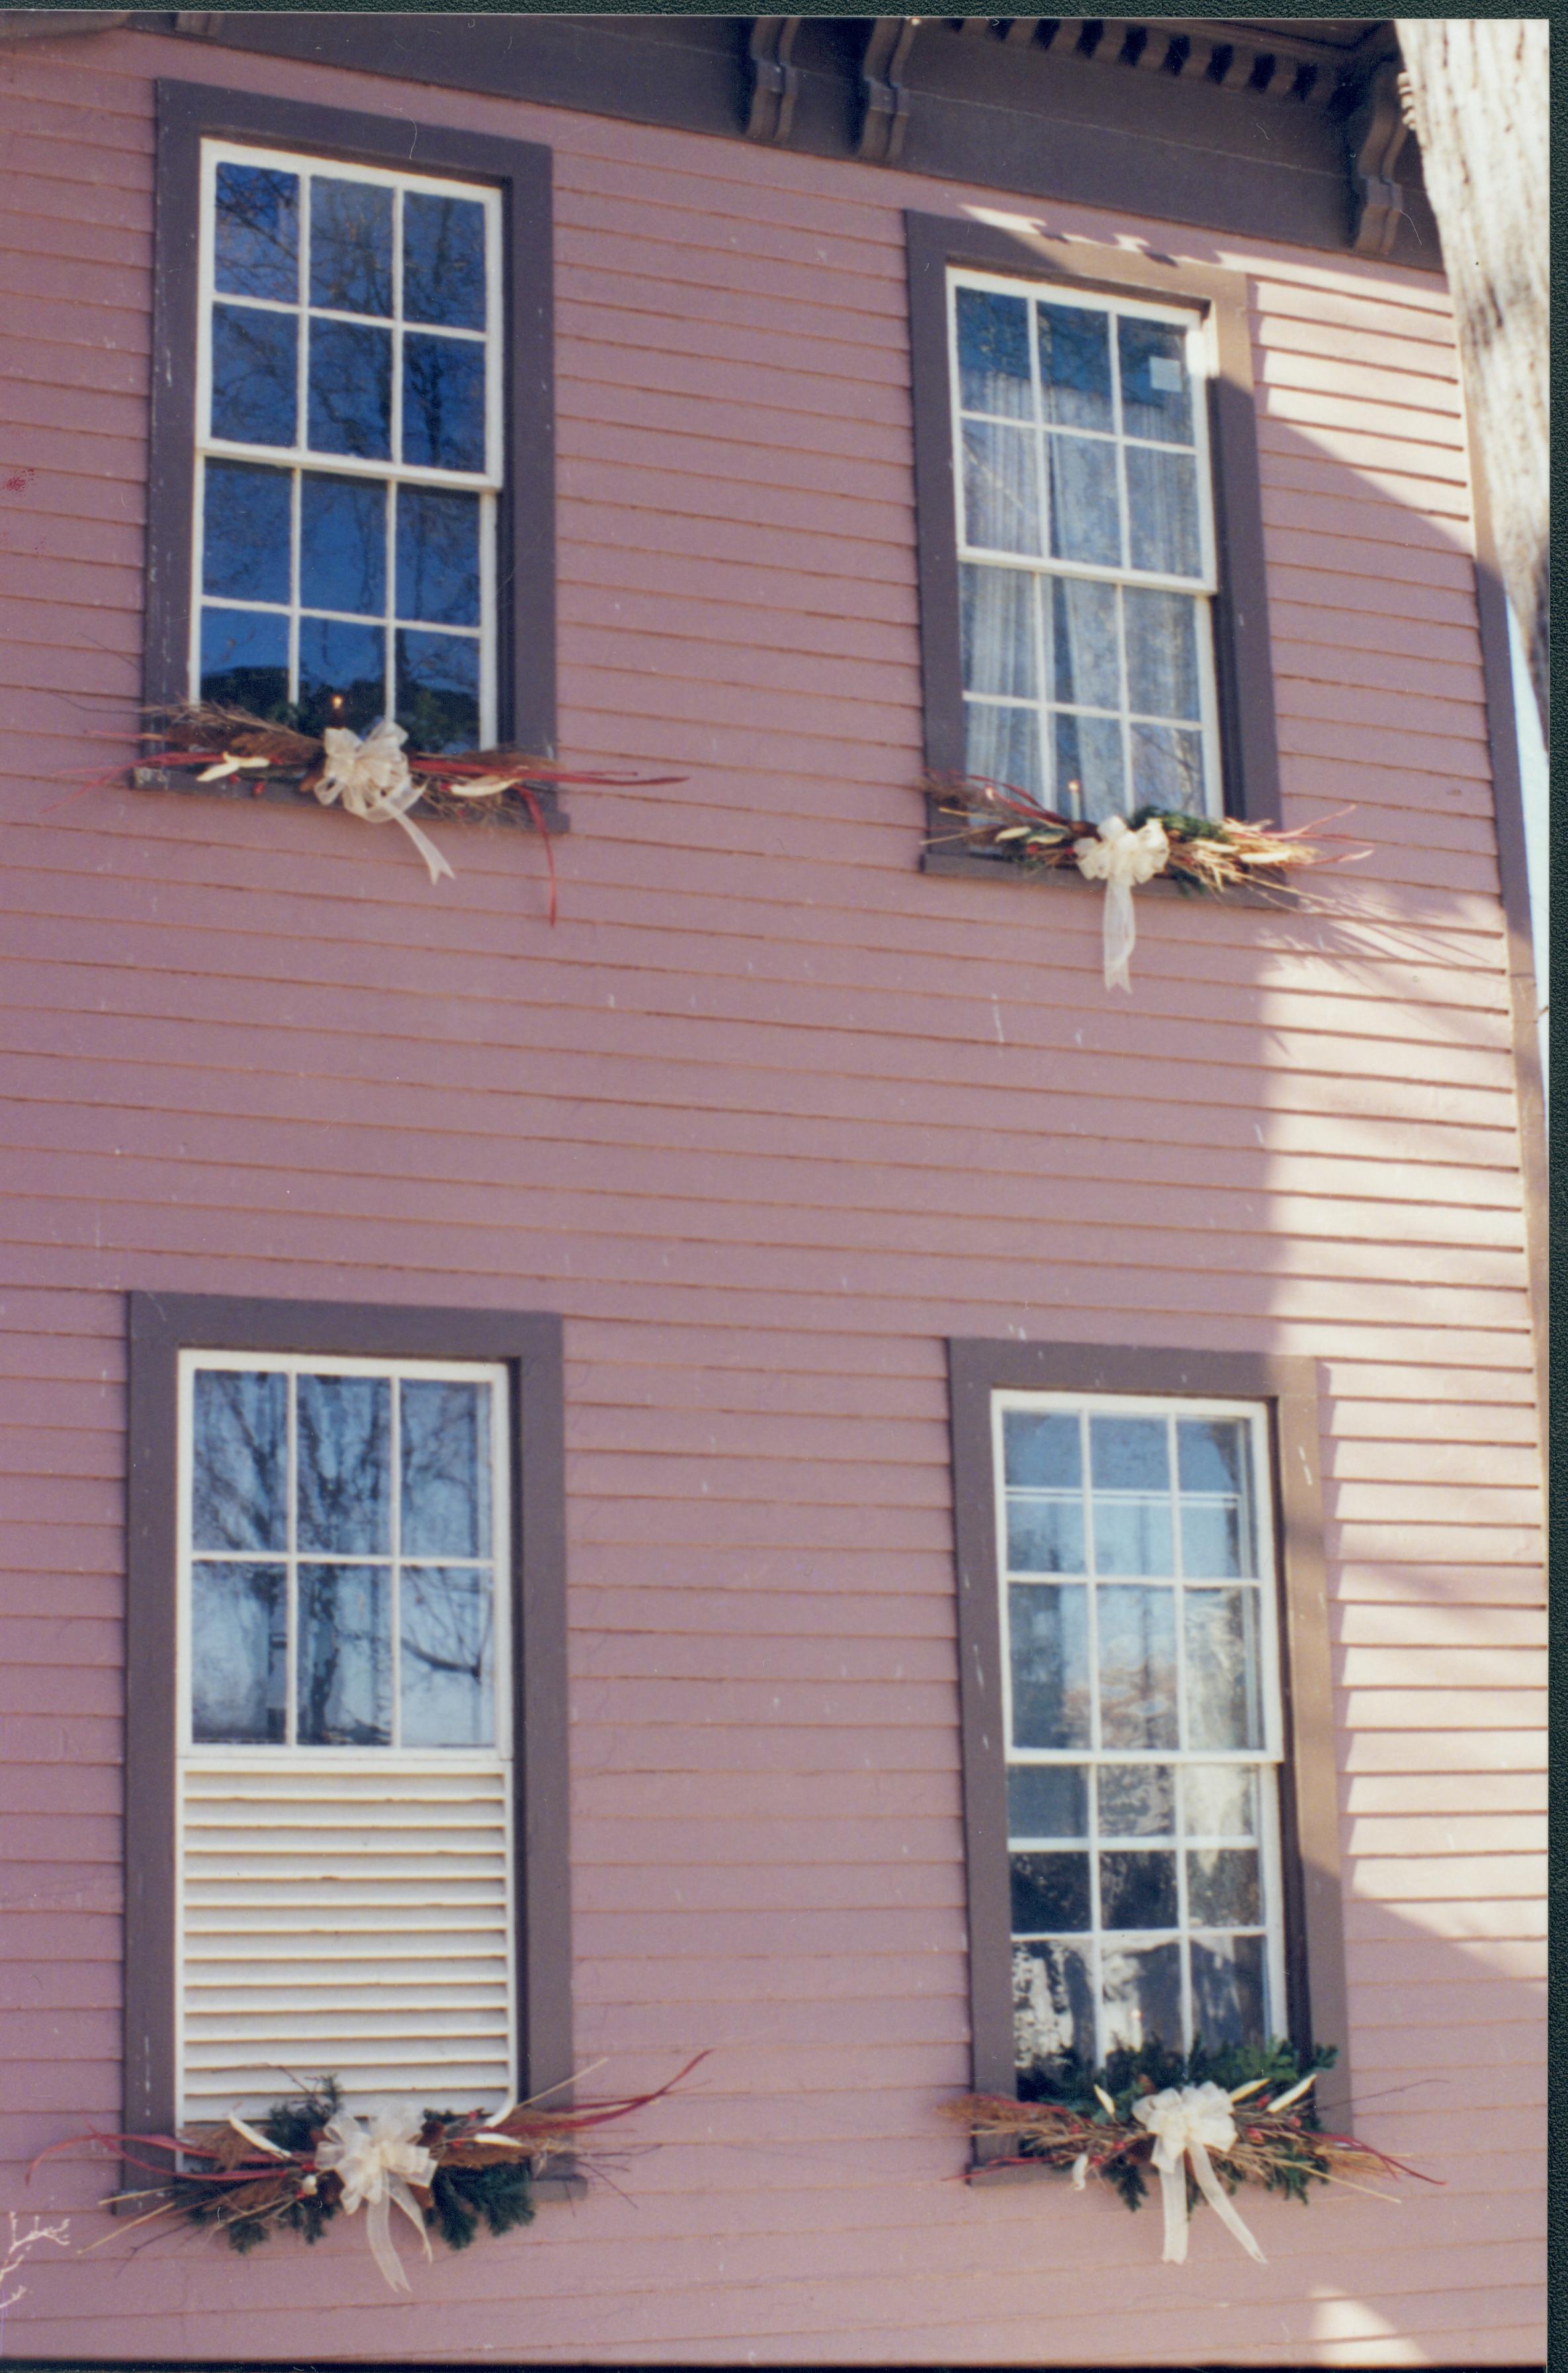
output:
M176 2133L69 2136L43 2150L33 2167L57 2150L95 2143L157 2178L111 2193L104 2207L138 2209L130 2226L154 2219L206 2226L240 2252L282 2228L315 2242L339 2212L356 2216L363 2207L365 2240L384 2280L391 2290L408 2290L391 2238L394 2209L415 2228L427 2259L432 2231L448 2250L467 2250L479 2226L493 2235L527 2226L534 2221L536 2176L562 2159L574 2174L591 2176L595 2155L584 2148L586 2138L662 2100L700 2060L707 2053L652 2093L586 2100L572 2110L546 2110L546 2095L538 2095L493 2114L401 2105L353 2112L337 2076L318 2076L308 2091L273 2102L256 2124L230 2117ZM149 2159L152 2150L171 2164Z

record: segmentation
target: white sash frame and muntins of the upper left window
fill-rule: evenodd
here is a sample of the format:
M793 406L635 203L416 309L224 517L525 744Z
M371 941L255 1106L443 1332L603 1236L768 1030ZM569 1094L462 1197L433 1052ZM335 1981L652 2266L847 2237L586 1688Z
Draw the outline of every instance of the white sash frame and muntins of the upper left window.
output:
M216 287L216 190L218 190L218 166L221 164L247 164L259 168L270 168L280 173L297 173L301 183L299 204L299 301L285 304L273 297L235 297ZM308 301L311 292L311 178L323 180L363 180L380 190L394 192L391 214L391 323L387 325L380 316L370 313L344 313L327 306L313 306ZM394 173L382 166L349 164L334 157L304 154L294 149L256 147L242 140L213 140L202 138L202 214L199 214L199 273L197 273L197 441L195 441L195 501L192 501L192 603L190 603L190 698L199 698L202 686L202 615L204 610L249 610L266 612L270 617L287 619L289 631L289 702L299 700L299 515L301 515L301 475L311 470L325 477L365 477L387 484L387 610L380 622L368 619L349 610L311 610L311 617L337 619L351 626L375 626L382 629L382 653L384 653L384 683L391 688L389 712L396 710L396 634L399 626L408 631L432 631L451 634L460 641L477 641L479 645L479 745L496 740L496 702L498 702L498 626L496 626L496 517L498 498L503 491L503 430L505 430L505 297L501 278L501 192L486 183L467 183L448 176L434 178L425 173ZM418 192L429 197L463 197L467 202L484 206L484 271L486 271L486 299L484 299L484 330L455 330L444 323L403 323L403 195ZM297 316L301 330L297 339L297 396L294 396L294 427L297 441L292 446L263 446L242 444L225 437L211 434L211 320L213 304L237 304L251 306L263 313L292 313ZM304 444L308 434L308 323L342 320L356 327L389 327L391 335L391 458L368 460L356 453L315 453ZM439 337L460 339L467 344L484 346L486 373L484 373L484 470L434 470L427 465L403 463L396 456L403 444L403 332L434 332ZM266 603L266 600L235 600L228 596L216 596L209 600L204 591L204 541L206 541L206 517L204 517L204 491L206 491L206 463L211 460L244 460L275 467L289 475L289 501L292 501L292 558L289 558L289 600ZM425 619L399 619L396 615L396 489L399 486L441 486L463 494L479 496L479 626L432 626Z

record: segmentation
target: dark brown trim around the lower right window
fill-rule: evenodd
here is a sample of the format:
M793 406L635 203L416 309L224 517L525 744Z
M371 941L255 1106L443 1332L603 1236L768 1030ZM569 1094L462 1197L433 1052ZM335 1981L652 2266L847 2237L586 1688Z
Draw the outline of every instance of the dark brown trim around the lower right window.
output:
M1179 1353L975 1338L954 1338L946 1353L975 2091L1011 2093L1015 2083L992 1393L1150 1393L1162 1400L1191 1393L1269 1405L1286 1697L1286 1763L1281 1770L1286 2015L1293 2043L1338 2046L1338 2065L1326 2079L1319 2079L1319 2093L1328 2124L1347 2119L1345 1915L1317 1362L1271 1353ZM980 2157L984 2159L987 2152L982 2150Z

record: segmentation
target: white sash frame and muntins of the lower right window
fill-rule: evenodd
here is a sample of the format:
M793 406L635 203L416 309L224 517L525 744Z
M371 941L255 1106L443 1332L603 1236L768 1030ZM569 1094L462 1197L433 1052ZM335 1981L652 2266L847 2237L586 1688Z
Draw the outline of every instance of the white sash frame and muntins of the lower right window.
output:
M1255 1564L1257 1576L1203 1576L1193 1580L1193 1588L1253 1588L1257 1592L1257 1652L1260 1652L1260 1694L1262 1694L1262 1742L1257 1747L1238 1749L1212 1749L1212 1747L1101 1747L1101 1706L1098 1706L1098 1623L1096 1623L1096 1571L1094 1571L1094 1528L1086 1526L1084 1538L1084 1571L1082 1573L1056 1573L1037 1576L1022 1573L1020 1583L1065 1583L1086 1585L1086 1616L1089 1616L1089 1673L1094 1678L1091 1690L1091 1735L1089 1747L1015 1747L1013 1744L1013 1659L1008 1652L1011 1637L1011 1573L1008 1573L1008 1485L1006 1485L1006 1445L1003 1445L1003 1417L1008 1410L1025 1410L1039 1414L1075 1414L1082 1419L1082 1455L1084 1455L1084 1478L1089 1476L1089 1419L1091 1417L1162 1417L1174 1429L1181 1419L1243 1419L1250 1433L1250 1459L1253 1459L1253 1528L1255 1528ZM1200 1849L1212 1844L1203 1837L1186 1837L1181 1827L1181 1780L1177 1777L1177 1820L1172 1837L1115 1837L1101 1839L1098 1832L1098 1787L1086 1789L1086 1834L1082 1839L1013 1839L1008 1820L1008 1858L1032 1851L1058 1851L1058 1853L1086 1853L1089 1856L1089 1908L1091 1927L1086 1932L1030 1932L1039 1941L1060 1941L1072 1948L1082 1948L1089 1958L1089 1970L1094 1977L1094 2065L1103 2065L1110 2050L1105 2036L1105 2003L1101 1986L1101 1948L1103 1939L1113 1936L1120 1948L1136 1951L1139 1946L1169 1943L1177 1941L1186 1946L1193 1936L1203 1941L1205 1934L1262 1934L1264 1936L1264 2008L1262 2027L1264 2038L1286 2034L1286 1901L1283 1901L1283 1851L1281 1851L1281 1818L1279 1818L1279 1775L1283 1766L1283 1690L1281 1690L1281 1644L1279 1644L1279 1564L1274 1542L1274 1476L1271 1476L1271 1450L1269 1450L1269 1412L1260 1400L1198 1400L1188 1395L1143 1395L1143 1393L1027 1393L1027 1391L992 1391L992 1476L996 1493L996 1588L999 1588L999 1621L1001 1621L1001 1739L1003 1739L1003 1766L1051 1766L1072 1763L1091 1766L1098 1770L1103 1763L1165 1763L1174 1766L1177 1773L1188 1763L1231 1763L1238 1768L1257 1770L1257 1877L1262 1889L1262 1922L1257 1927L1226 1927L1226 1929L1203 1929L1193 1927L1186 1915L1186 1853L1188 1849ZM1177 1507L1177 1469L1174 1469L1174 1431L1172 1431L1172 1509ZM1177 1592L1177 1602L1186 1588L1181 1573L1181 1526L1172 1523L1172 1578L1169 1588ZM1155 1588L1165 1583L1162 1576L1139 1576ZM1181 1621L1181 1604L1177 1604L1177 1716L1179 1737L1186 1735L1186 1626ZM1224 1839L1219 1844L1236 1846L1238 1839ZM1174 1929L1103 1929L1101 1927L1101 1849L1108 1851L1169 1851L1177 1860L1177 1927ZM1191 1996L1191 1955L1181 1951L1181 2048L1191 2048L1193 2041L1193 1996ZM1165 2038L1174 2048L1174 2038ZM1079 2046L1082 2048L1082 2046Z

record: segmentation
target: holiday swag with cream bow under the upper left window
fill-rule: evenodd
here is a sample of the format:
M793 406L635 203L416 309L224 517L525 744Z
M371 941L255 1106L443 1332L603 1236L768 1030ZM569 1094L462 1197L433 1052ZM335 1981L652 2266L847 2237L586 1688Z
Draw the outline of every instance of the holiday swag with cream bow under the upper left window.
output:
M527 809L546 845L550 921L555 921L555 854L541 802L562 783L657 788L683 781L676 774L574 774L510 747L406 750L408 733L387 717L361 736L346 726L301 733L211 700L152 714L159 717L159 729L142 738L159 747L147 752L142 766L192 766L199 769L199 783L249 776L254 790L287 776L301 793L315 793L323 807L342 802L344 812L363 823L399 823L425 859L432 883L451 880L453 869L429 833L413 821L410 807L422 804L429 816L446 821L486 812L496 816L508 807Z

